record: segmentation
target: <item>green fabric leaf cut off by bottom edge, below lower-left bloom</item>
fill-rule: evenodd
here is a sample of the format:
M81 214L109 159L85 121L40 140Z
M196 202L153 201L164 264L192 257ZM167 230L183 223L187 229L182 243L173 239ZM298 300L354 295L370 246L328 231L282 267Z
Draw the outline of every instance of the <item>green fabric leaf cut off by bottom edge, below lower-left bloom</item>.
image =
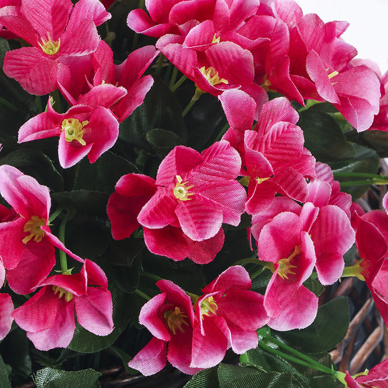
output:
M99 376L93 369L66 372L45 368L36 372L34 382L36 388L99 388Z

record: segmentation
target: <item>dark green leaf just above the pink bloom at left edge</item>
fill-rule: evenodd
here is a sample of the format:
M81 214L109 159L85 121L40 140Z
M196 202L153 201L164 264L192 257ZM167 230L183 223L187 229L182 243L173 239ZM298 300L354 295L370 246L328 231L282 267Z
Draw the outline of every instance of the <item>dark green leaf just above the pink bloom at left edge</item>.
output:
M3 164L16 167L51 190L61 191L64 188L64 181L50 158L35 149L17 149L0 159L0 165Z

